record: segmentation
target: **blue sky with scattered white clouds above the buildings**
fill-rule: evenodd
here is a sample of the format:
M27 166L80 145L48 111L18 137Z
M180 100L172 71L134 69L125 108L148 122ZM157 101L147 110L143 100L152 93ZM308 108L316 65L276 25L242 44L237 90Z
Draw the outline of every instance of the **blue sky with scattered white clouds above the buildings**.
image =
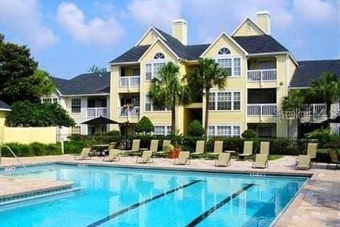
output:
M188 44L211 43L263 10L297 60L340 58L339 0L0 0L0 33L27 45L40 69L69 79L107 66L151 25L171 34L171 22L184 18Z

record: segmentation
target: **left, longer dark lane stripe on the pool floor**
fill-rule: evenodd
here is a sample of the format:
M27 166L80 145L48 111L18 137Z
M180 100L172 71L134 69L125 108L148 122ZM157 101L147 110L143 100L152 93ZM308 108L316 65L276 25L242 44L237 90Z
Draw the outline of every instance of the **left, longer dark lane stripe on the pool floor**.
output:
M129 206L129 207L125 208L125 209L122 209L122 210L120 210L120 211L117 211L117 212L115 212L115 213L113 213L113 214L111 214L111 215L109 215L109 216L106 216L105 218L102 218L102 219L99 220L99 221L96 221L96 222L94 222L94 223L91 223L91 224L90 224L89 226L87 226L87 227L95 227L95 226L99 226L99 225L101 225L102 223L105 223L105 222L107 222L107 221L110 221L111 219L113 219L113 218L115 218L115 217L117 217L117 216L120 216L120 215L122 215L122 214L124 214L124 213L126 213L126 212L128 212L128 211L131 211L132 209L136 209L137 207L142 206L142 205L144 205L144 204L147 204L147 203L149 203L150 201L154 201L155 199L162 198L162 197L164 197L164 196L166 196L166 195L168 195L168 194L174 193L174 192L176 192L176 191L179 191L179 190L181 190L181 189L184 189L184 188L186 188L186 187L189 187L189 186L191 186L191 185L193 185L193 184L197 184L198 182L204 182L204 181L201 180L201 179L193 180L192 182L190 182L190 183L188 183L188 184L181 185L180 187L176 187L176 188L171 189L171 190L169 190L169 191L167 191L167 192L163 192L162 194L157 194L157 196L153 196L153 197L151 197L151 198L149 198L149 199L145 199L144 201L141 201L141 202L139 202L139 203L137 203L137 204L133 204L132 206Z

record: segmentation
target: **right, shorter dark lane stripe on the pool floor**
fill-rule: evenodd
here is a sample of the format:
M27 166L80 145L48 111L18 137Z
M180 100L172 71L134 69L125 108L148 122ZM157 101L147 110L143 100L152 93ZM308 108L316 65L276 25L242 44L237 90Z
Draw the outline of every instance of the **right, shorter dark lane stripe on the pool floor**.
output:
M188 225L186 225L186 227L197 226L198 223L203 221L205 218L208 218L208 216L210 216L210 214L212 214L213 212L217 211L217 209L220 209L222 206L227 204L230 200L236 198L237 196L239 196L240 194L245 192L247 189L253 187L254 185L255 184L246 184L246 186L242 187L242 189L239 189L239 191L235 192L231 196L227 196L227 198L223 199L222 201L220 201L215 206L212 206L210 209L208 209L208 211L205 211L203 214L201 214L200 216L198 216L195 219L193 219L193 221L191 221L191 223L188 223Z

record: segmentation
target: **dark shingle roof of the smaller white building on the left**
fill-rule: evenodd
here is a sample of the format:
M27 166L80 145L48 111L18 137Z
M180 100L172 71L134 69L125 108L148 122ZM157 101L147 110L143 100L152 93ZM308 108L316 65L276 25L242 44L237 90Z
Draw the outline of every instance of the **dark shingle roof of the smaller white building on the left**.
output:
M63 95L103 94L110 91L110 72L84 73L72 79L52 79Z

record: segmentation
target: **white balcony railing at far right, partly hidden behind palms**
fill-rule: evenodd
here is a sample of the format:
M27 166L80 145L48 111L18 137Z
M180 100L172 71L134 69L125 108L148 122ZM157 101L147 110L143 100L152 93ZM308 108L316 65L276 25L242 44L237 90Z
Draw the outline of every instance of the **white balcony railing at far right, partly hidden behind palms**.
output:
M305 104L302 111L302 120L305 121L324 121L327 119L326 104Z

